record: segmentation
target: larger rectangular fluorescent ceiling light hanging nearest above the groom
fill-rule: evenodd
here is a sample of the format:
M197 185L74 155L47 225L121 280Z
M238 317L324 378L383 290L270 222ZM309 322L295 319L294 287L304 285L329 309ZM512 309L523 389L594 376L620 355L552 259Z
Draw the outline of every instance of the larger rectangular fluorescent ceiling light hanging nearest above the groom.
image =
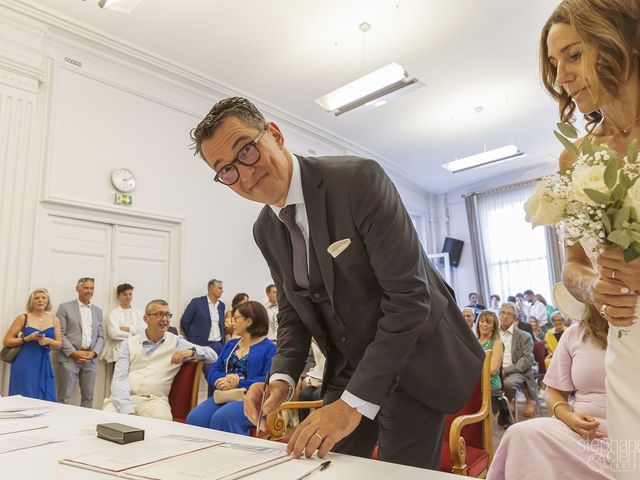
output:
M402 92L406 93L423 85L416 78L409 78L401 65L390 63L316 99L316 103L327 112L341 115L362 105L379 107L394 94L398 94L400 89L412 86L413 88Z

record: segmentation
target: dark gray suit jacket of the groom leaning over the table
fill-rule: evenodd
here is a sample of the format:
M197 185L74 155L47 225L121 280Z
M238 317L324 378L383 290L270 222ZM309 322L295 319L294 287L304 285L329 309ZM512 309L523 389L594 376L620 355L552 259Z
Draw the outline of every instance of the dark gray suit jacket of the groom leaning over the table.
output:
M317 292L296 293L288 233L265 206L253 231L278 287L271 372L297 379L312 336L329 364L333 333L356 366L346 387L352 394L382 406L400 386L434 410L457 411L478 381L484 352L422 251L393 183L371 160L299 159L309 233L337 318L323 328L311 300ZM333 258L327 247L346 238L351 244Z

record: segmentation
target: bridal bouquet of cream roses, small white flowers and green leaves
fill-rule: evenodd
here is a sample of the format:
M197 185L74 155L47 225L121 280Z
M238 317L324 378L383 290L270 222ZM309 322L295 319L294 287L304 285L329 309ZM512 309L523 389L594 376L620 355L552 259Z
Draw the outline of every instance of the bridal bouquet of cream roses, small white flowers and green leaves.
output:
M556 137L577 160L563 173L540 180L524 205L526 220L553 225L573 245L581 239L616 245L626 262L640 256L640 163L633 140L622 159L607 145L585 138L580 151L573 125L558 123Z

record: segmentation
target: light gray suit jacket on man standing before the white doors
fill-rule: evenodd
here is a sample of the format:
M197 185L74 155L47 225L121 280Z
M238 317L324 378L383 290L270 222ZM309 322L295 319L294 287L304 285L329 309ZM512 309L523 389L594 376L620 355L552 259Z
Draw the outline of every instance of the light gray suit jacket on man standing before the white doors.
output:
M60 319L62 333L62 348L58 353L58 361L74 361L69 357L73 352L80 349L82 342L82 319L78 301L71 300L60 304L56 316ZM97 355L100 355L104 346L102 309L91 304L91 317L93 323L91 327L91 347L89 348L91 351L96 352ZM97 361L97 357L93 360Z

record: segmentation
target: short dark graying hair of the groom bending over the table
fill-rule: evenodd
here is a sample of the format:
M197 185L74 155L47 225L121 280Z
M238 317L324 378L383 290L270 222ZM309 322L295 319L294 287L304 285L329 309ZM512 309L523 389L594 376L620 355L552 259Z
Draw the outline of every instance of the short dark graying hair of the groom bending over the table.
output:
M198 126L191 130L190 136L193 141L191 148L195 150L195 155L202 157L202 142L211 138L216 128L229 117L236 117L248 127L254 127L257 130L263 130L267 125L260 110L246 98L229 97L220 100Z

